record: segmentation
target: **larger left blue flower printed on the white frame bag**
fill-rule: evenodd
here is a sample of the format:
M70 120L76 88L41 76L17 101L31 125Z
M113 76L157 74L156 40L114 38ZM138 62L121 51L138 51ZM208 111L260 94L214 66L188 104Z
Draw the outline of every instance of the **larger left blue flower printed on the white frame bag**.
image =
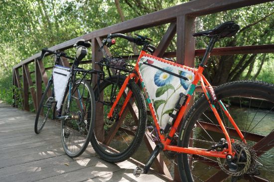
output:
M164 70L172 71L172 69L170 67L166 67L166 68L164 68ZM156 86L161 87L166 84L169 84L172 81L172 78L173 78L172 75L170 75L166 72L163 72L161 70L158 70L156 72L156 74L154 75L154 83Z

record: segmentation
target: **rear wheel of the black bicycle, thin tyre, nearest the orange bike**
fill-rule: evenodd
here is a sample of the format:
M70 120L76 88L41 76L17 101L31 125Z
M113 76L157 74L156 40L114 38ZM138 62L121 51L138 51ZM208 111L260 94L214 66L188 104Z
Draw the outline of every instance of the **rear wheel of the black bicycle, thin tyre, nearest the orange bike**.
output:
M76 81L71 89L70 111L68 112L68 95L67 91L61 115L71 114L78 118L61 120L61 141L65 153L75 158L86 150L91 140L95 122L95 96L86 80Z

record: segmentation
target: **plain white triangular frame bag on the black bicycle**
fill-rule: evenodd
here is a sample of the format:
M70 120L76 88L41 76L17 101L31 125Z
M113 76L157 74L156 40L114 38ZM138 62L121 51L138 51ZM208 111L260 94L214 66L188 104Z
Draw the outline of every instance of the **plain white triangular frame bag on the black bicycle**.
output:
M57 101L56 108L59 110L61 108L62 99L68 84L70 68L55 65L53 68L52 76L54 85L54 97L55 101Z

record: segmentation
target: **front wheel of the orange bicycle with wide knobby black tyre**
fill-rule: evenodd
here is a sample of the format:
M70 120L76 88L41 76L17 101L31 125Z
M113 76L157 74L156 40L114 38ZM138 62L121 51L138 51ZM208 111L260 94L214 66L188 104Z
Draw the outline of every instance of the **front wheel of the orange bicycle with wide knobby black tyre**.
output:
M100 137L104 136L103 139L99 138L96 134L96 131L94 131L91 139L91 144L96 151L96 153L105 161L111 162L111 163L118 163L127 160L129 157L131 157L137 150L137 148L140 146L144 132L146 127L146 105L145 100L143 97L142 92L137 87L135 82L130 81L127 88L128 91L131 90L133 92L132 98L135 98L135 104L137 106L137 112L135 113L138 115L138 118L135 118L135 114L128 114L125 116L125 120L123 121L123 124L119 125L119 128L117 129L117 132L115 133L115 136L108 137L108 134L111 133L111 129L115 128L115 122L110 121L107 119L106 115L108 114L109 109L113 105L113 102L109 101L109 95L108 91L109 89L113 89L114 86L117 83L121 87L124 83L126 77L120 76L120 79L118 80L118 76L112 76L111 78L106 79L100 84L100 95L104 92L104 105L103 108L105 108L105 113L101 115L101 117L104 117L104 125L101 124L101 127L98 129L97 133L104 133L104 135L101 135ZM119 87L118 87L119 88ZM119 89L118 89L119 90ZM116 94L118 93L118 90ZM120 112L120 107L123 105L123 99L125 98L125 95L122 96L123 98L120 99L120 102L116 108L118 108L115 112ZM109 104L107 104L109 103ZM121 103L121 104L120 104ZM126 108L127 109L127 108ZM125 109L125 110L126 110ZM136 111L136 110L135 110ZM99 112L97 112L99 115ZM115 116L114 116L115 117ZM119 120L122 122L122 120ZM117 121L117 123L119 123ZM134 121L134 122L130 122ZM121 123L120 122L120 123ZM98 123L96 123L98 124ZM98 124L99 125L99 124ZM103 125L103 126L102 126ZM115 130L112 130L115 131ZM134 136L131 137L131 136ZM99 138L99 139L97 139ZM106 138L111 138L108 142L105 141ZM125 139L125 140L123 140ZM104 142L100 142L98 140L101 140ZM108 144L107 146L105 144ZM111 149L110 149L111 147ZM114 149L114 150L113 150ZM114 152L115 151L115 152Z

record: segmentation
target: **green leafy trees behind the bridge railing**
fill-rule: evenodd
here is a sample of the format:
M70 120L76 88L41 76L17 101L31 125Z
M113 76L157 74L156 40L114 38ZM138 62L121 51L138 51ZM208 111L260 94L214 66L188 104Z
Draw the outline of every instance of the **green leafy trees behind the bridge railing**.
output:
M120 0L120 5L125 20L129 20L186 1L188 0ZM0 99L8 103L12 102L14 65L39 52L43 47L52 47L121 22L114 0L0 0L0 9L4 9L0 13ZM196 31L211 29L221 22L235 20L242 30L235 38L221 40L216 44L217 47L270 44L274 42L273 13L273 2L267 2L206 15L197 18ZM147 35L153 39L153 44L157 45L168 26L169 24L165 24L133 33ZM176 36L168 51L175 51L175 40ZM207 38L197 38L196 48L205 48L207 42ZM139 51L139 48L132 49L132 45L122 39L118 39L113 48L121 55ZM74 49L67 52L70 55L75 54ZM90 58L91 54L87 59ZM256 79L256 72L262 63L261 58L260 55L212 57L206 77L213 85L245 78ZM52 66L52 60L52 57L46 58L43 61L45 67ZM268 54L258 79L267 81L265 77L273 78L273 72L266 71L265 66L273 60L273 54ZM91 68L90 65L84 67ZM29 69L34 71L34 65L30 64ZM49 75L50 70L47 73ZM34 74L31 77L34 80ZM274 82L271 79L270 81Z

